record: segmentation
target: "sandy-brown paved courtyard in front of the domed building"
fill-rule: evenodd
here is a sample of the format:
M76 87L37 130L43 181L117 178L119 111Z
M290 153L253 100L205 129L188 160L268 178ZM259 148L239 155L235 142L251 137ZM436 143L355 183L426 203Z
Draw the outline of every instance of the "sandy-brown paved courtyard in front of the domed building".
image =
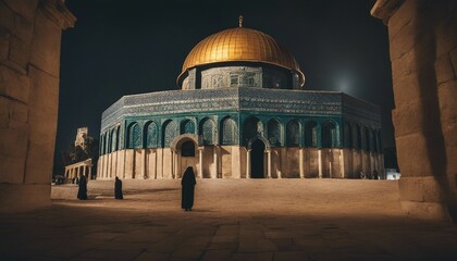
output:
M0 260L457 260L457 227L404 215L397 183L90 181L52 188L52 207L0 216Z

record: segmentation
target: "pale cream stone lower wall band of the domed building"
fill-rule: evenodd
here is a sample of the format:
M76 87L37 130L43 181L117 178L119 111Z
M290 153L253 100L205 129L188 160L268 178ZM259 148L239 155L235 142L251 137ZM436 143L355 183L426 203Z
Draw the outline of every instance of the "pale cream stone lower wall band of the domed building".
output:
M265 177L269 153L272 178L360 178L360 171L369 176L374 170L380 177L384 176L383 156L380 153L337 148L276 147L264 152ZM170 148L120 150L100 157L97 178L181 178L189 165L202 178L246 178L247 157L246 148L238 146L202 146L195 157L181 157L178 151Z

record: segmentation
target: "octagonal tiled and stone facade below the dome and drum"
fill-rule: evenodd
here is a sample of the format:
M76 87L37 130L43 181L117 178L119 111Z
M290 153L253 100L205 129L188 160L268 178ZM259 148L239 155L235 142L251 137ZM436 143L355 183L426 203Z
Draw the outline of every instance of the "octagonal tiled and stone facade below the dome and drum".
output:
M102 114L98 178L178 178L187 165L203 178L382 175L380 129L378 107L342 92L226 87L125 96Z

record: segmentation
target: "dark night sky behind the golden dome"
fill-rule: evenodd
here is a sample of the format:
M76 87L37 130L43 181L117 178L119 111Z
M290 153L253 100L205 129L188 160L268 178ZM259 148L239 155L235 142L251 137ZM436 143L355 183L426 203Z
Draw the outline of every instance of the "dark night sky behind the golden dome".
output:
M122 96L176 89L187 53L238 26L285 46L305 73L305 89L337 90L381 107L384 147L394 146L387 27L370 16L374 0L66 0L77 17L62 34L57 152Z

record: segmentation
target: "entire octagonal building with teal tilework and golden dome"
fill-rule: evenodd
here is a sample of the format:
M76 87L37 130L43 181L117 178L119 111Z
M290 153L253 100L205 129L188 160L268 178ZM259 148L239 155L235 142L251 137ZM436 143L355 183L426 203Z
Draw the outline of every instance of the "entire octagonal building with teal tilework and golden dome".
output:
M124 96L101 120L97 178L337 177L384 173L379 108L301 90L297 61L239 27L200 41L180 90Z

